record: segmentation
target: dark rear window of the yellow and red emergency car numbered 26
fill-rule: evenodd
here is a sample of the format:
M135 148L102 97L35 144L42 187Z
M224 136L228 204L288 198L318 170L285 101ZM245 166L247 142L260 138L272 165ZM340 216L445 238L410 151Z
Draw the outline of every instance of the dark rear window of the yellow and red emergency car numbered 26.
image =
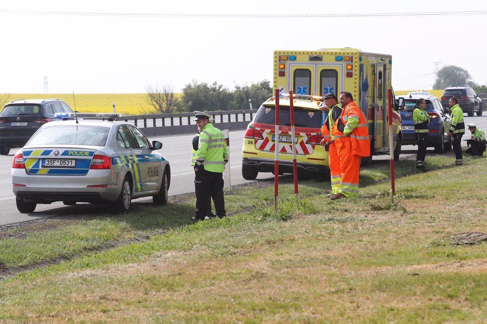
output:
M275 125L275 107L261 105L254 122ZM322 111L294 107L294 125L296 127L320 128L322 125ZM291 115L288 106L279 107L279 125L290 126Z

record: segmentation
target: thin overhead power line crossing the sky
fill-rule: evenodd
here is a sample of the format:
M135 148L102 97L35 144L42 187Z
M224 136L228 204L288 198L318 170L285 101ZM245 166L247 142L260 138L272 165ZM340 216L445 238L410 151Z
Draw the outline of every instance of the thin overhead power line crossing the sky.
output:
M0 10L6 14L39 14L70 16L108 17L154 17L154 18L345 18L345 17L424 17L424 16L478 16L487 10L436 11L436 12L375 12L375 13L317 13L317 14L206 14L206 13L122 13L122 12L73 12L73 11L32 11Z

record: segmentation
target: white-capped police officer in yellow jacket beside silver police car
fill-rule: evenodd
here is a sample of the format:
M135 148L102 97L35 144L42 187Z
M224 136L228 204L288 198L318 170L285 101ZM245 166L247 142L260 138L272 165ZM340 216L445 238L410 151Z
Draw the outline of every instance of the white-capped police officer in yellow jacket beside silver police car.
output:
M221 130L215 128L210 122L211 116L202 111L195 111L195 121L201 129L198 150L196 152L195 190L196 190L196 221L205 219L210 209L210 197L215 204L219 218L223 218L225 199L223 196L223 171L228 162L227 144Z

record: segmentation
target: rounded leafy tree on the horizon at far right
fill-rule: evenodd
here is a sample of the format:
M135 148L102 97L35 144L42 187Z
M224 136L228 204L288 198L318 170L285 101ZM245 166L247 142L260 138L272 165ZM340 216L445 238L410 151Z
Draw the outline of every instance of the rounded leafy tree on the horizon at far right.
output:
M438 71L433 90L443 90L449 86L470 86L476 93L487 93L487 84L476 83L467 70L454 65L447 65Z

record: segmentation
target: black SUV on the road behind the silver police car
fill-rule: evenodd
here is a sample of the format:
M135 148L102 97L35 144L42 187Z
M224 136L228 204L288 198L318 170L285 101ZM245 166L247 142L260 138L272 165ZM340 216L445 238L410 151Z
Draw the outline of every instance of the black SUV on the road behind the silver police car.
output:
M51 120L56 112L73 112L59 99L16 99L0 112L0 155L10 148L22 147L35 131Z

